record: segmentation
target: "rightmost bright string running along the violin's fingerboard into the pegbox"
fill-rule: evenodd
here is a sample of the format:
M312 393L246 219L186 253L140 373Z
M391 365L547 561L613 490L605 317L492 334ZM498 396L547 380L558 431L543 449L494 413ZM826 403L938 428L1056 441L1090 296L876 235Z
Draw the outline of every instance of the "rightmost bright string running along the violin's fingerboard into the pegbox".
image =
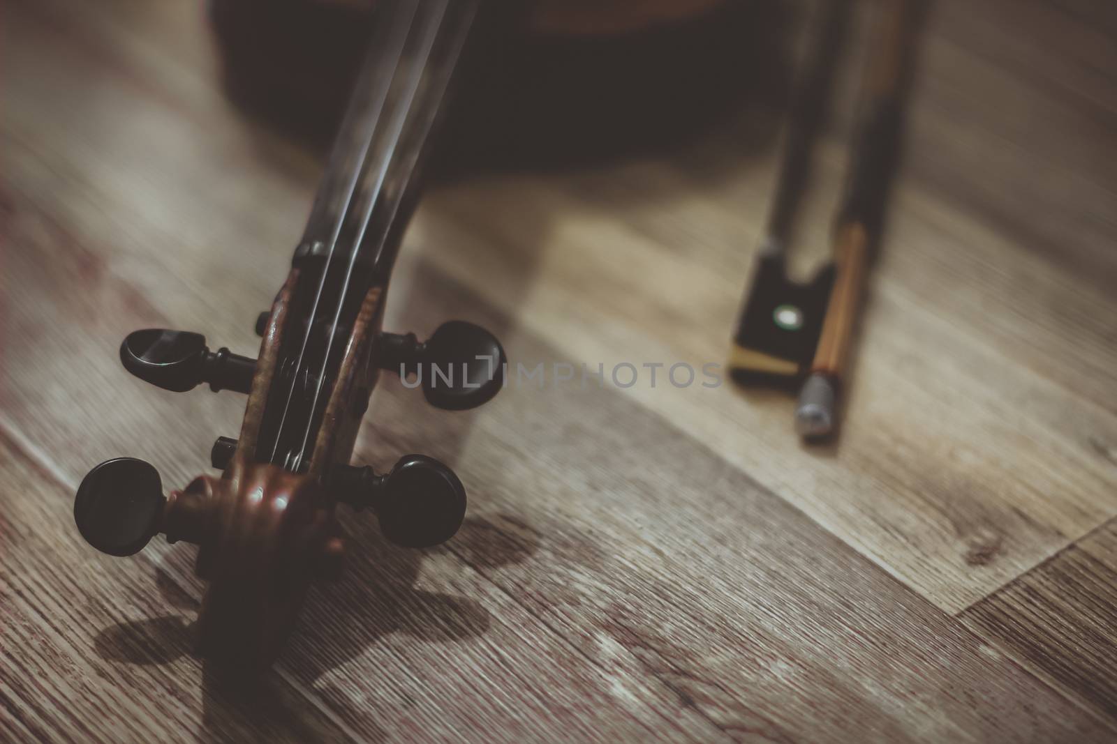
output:
M326 351L322 357L322 369L317 375L317 383L315 384L314 398L312 399L311 403L311 409L309 409L311 415L307 421L306 431L303 433L303 443L298 448L299 457L302 456L302 453L305 452L307 441L311 437L311 428L313 426L314 412L317 409L318 398L322 395L322 387L326 376L326 367L330 364L330 354L333 350L334 339L337 335L337 323L341 320L342 309L344 308L345 305L345 297L349 293L349 287L353 278L353 269L356 267L356 260L361 253L360 251L361 243L364 241L365 233L369 230L369 225L372 221L372 213L375 210L376 202L380 200L380 196L383 193L384 182L388 178L388 172L392 165L392 158L395 155L397 149L399 148L400 141L403 137L403 132L407 125L407 120L409 118L409 115L411 114L411 109L416 100L416 96L418 95L419 89L422 86L423 73L426 71L427 65L430 61L431 51L435 48L435 41L438 39L439 31L442 28L442 19L446 17L446 10L448 6L449 6L449 0L441 0L441 2L439 2L437 6L437 10L431 11L433 17L430 22L430 27L427 31L427 35L422 39L422 46L420 48L419 59L414 65L414 70L411 74L410 79L408 80L408 88L404 98L404 104L400 107L399 113L397 113L392 122L391 144L386 148L383 162L380 164L380 170L376 173L375 185L367 197L365 211L361 220L360 232L357 233L356 238L353 241L353 251L351 252L352 254L350 257L349 265L346 267L345 270L345 280L342 283L342 291L338 293L337 297L337 307L334 310L334 319L330 328L330 338L326 341ZM398 193L402 192L398 191ZM395 210L393 209L392 211L393 218ZM389 222L385 224L384 228L385 235L389 232L390 223L391 220L389 220Z

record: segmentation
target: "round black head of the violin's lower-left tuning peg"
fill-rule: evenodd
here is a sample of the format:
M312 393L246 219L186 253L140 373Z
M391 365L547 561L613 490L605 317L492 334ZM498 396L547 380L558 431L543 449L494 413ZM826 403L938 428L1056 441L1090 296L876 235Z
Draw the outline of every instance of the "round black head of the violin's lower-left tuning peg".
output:
M82 481L74 521L85 541L109 555L132 555L157 532L166 499L159 472L134 457L101 463Z

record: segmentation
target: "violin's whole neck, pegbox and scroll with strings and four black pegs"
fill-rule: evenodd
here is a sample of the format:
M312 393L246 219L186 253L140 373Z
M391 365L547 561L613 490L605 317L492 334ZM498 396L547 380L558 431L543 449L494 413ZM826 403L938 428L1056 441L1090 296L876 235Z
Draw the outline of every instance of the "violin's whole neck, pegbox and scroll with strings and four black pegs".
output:
M208 583L199 650L241 670L269 666L311 583L338 576L340 504L371 511L384 538L408 548L442 543L462 523L466 490L437 460L407 454L386 473L351 464L380 374L418 377L427 403L446 410L483 405L503 386L505 352L484 328L450 321L424 341L381 328L479 0L374 4L369 51L290 272L257 319L257 357L166 329L137 330L120 348L127 371L164 390L208 384L247 395L239 436L211 452L221 475L164 495L152 465L118 457L89 471L74 502L78 531L103 553L132 555L159 533L199 545L195 571ZM604 23L608 9L607 26L626 27L624 3L598 4L540 7L532 22L575 32ZM672 18L681 4L648 3L650 15L630 12L627 28Z

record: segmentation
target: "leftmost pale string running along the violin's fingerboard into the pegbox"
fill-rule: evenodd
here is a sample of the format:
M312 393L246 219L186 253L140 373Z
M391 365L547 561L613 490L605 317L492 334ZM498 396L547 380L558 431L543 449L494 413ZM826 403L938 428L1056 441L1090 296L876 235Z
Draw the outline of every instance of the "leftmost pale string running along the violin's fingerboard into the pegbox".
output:
M397 28L397 23L399 23L400 18L402 18L399 13L405 11L408 8L410 8L410 15L407 16L407 27L403 28L401 31L400 29ZM403 59L403 49L407 46L408 37L411 35L411 27L414 25L414 18L418 12L418 9L419 9L419 0L413 0L410 3L399 3L397 6L398 15L393 17L393 21L395 22L393 23L393 35L390 37L393 41L392 45L393 51L390 59L395 60L394 66L392 68L393 71L392 75L383 75L381 73L378 76L379 79L381 80L381 85L378 88L374 96L374 99L376 100L376 104L374 106L375 114L367 117L367 123L364 127L365 132L362 133L361 137L361 141L363 142L361 146L361 154L356 161L355 167L353 168L353 175L350 178L349 186L346 187L345 202L341 209L340 214L334 221L333 228L331 229L330 245L326 249L325 265L322 268L322 276L318 280L317 291L315 292L314 296L314 302L311 306L311 315L307 319L306 328L304 329L303 332L303 342L299 347L298 357L296 358L295 367L292 373L290 387L287 390L287 397L284 402L283 414L279 417L279 425L276 427L275 445L271 447L271 455L268 457L269 462L275 462L276 455L279 451L279 442L283 439L284 425L287 422L287 414L290 412L290 404L295 397L295 388L298 386L299 370L303 368L303 359L306 356L306 348L309 345L311 334L313 332L314 329L314 321L318 312L318 305L322 301L322 294L325 290L326 277L330 273L330 265L333 261L335 249L337 248L337 240L341 236L341 232L342 229L344 228L345 219L349 216L350 209L355 201L357 187L360 186L361 183L361 175L364 171L364 162L367 158L369 151L372 147L372 141L376 131L376 126L380 122L380 115L383 113L384 104L388 102L388 94L391 89L392 79L394 78L394 70L399 68L399 65ZM369 54L370 56L375 55L376 50L371 49ZM357 80L357 85L362 85L363 83L364 83L364 76L362 75ZM360 105L361 105L360 100L355 100L353 104L354 109L356 109L356 107ZM354 116L356 115L356 110L353 112L353 115ZM346 116L346 119L349 116ZM345 127L343 125L341 136L344 137L345 134L346 134ZM345 145L344 142L338 143L338 148L340 149L343 148L344 145Z

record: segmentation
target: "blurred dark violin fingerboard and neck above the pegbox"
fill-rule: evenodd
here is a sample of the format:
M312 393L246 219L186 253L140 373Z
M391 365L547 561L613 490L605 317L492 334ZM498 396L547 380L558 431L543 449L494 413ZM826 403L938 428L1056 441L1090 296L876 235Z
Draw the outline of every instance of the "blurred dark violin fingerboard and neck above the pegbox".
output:
M295 253L296 265L307 259L341 259L386 281L477 4L378 3L367 56Z

